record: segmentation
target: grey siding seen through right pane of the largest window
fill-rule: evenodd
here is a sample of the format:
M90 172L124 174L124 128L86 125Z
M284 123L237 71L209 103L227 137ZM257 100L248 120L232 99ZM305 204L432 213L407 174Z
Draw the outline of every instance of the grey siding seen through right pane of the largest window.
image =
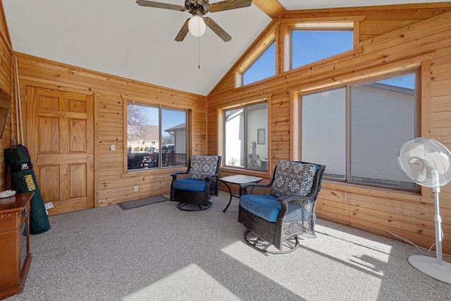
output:
M414 90L373 83L351 87L351 180L409 182L397 163L415 136Z

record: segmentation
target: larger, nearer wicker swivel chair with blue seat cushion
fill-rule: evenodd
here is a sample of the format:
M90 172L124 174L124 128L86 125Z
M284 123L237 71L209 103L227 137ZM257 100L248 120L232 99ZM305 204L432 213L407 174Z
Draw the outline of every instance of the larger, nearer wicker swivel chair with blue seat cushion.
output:
M247 243L261 252L287 253L299 247L298 235L315 235L315 204L326 166L278 161L268 184L240 185L238 221Z

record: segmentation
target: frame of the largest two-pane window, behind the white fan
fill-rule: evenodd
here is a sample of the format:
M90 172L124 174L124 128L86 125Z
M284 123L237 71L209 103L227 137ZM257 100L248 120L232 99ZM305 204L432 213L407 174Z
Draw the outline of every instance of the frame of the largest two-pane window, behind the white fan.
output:
M297 118L298 121L296 122L298 130L297 140L299 149L297 151L297 156L299 156L299 160L302 161L302 97L308 96L311 94L318 94L322 92L328 92L331 90L337 90L342 87L345 87L345 178L339 179L339 178L332 178L326 176L326 173L323 177L324 180L332 183L342 183L342 184L349 184L349 185L357 185L360 187L366 187L366 188L381 188L381 189L390 189L390 190L397 190L397 191L406 191L406 192L419 192L420 187L416 183L414 183L413 188L407 188L402 186L395 186L395 185L383 185L378 183L365 183L362 181L353 181L351 180L352 174L351 174L351 140L352 140L352 133L351 131L351 87L359 86L359 85L365 85L371 82L377 82L381 80L387 80L390 78L397 78L404 75L415 75L415 107L414 107L414 136L419 137L420 131L421 131L421 120L420 120L420 109L421 109L421 72L419 68L412 68L410 70L405 70L405 68L401 68L401 71L395 71L390 73L385 73L383 75L375 75L375 76L369 76L368 78L364 80L354 80L354 81L347 81L346 83L340 82L340 85L335 85L333 87L319 87L318 89L309 89L305 92L299 92L297 93ZM407 141L407 140L406 140Z

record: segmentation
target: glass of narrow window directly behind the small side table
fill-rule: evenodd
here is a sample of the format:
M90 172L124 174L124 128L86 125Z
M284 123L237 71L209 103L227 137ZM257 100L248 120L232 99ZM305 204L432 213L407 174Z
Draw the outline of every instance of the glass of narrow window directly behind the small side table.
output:
M242 106L224 112L224 165L266 171L268 105Z

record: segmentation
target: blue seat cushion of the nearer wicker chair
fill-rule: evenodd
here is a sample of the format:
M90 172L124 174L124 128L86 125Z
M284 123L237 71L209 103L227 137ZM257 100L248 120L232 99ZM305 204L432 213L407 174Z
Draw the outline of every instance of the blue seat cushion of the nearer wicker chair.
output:
M240 206L266 221L275 222L282 207L273 195L242 195Z

